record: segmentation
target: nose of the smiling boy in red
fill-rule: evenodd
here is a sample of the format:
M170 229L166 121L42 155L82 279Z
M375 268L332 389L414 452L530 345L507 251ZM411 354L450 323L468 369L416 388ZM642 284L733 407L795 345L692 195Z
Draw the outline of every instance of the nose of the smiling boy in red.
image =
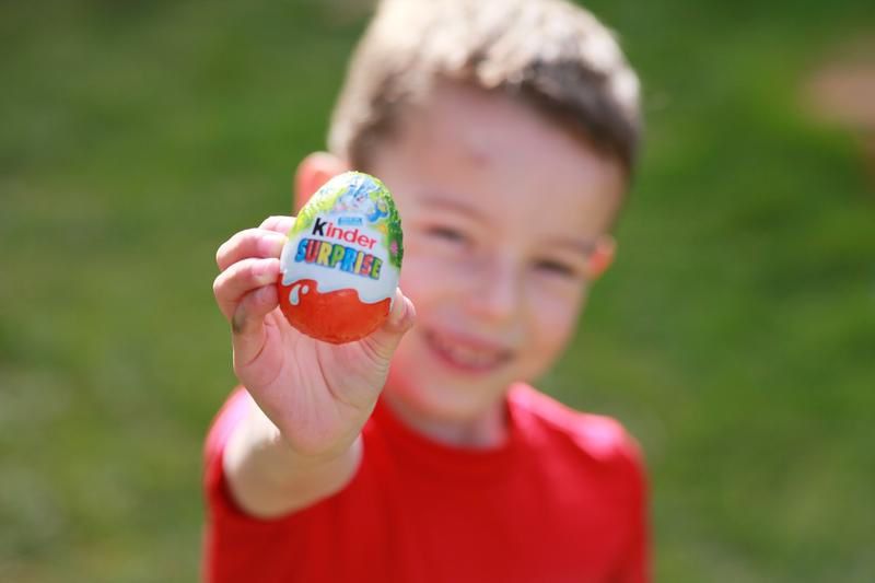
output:
M522 310L522 277L512 260L491 258L477 266L476 285L467 298L470 314L490 323L505 324Z

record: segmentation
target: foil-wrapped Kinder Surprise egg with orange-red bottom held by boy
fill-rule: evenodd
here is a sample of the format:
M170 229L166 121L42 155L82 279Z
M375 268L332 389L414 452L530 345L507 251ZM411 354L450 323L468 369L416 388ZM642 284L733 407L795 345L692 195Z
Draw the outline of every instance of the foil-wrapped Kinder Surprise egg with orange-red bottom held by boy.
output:
M342 343L386 319L401 269L401 222L368 174L335 176L301 209L280 257L280 308L302 333Z

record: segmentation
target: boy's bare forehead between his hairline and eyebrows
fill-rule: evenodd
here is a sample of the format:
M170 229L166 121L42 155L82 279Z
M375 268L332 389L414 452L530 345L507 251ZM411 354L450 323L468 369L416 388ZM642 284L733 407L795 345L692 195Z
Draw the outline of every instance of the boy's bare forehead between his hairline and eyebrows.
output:
M528 105L451 83L407 109L374 166L398 190L402 215L444 199L474 207L495 229L549 221L596 235L609 228L623 189L617 161Z

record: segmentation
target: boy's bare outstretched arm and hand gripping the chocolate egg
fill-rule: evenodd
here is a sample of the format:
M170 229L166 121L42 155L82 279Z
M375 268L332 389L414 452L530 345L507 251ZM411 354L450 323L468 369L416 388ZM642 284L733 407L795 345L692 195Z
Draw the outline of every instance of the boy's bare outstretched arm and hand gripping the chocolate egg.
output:
M231 323L234 371L253 400L225 445L223 469L247 513L275 517L341 489L362 456L360 432L388 363L412 326L398 291L384 326L334 346L293 329L280 313L276 281L291 218L237 233L217 254L213 291Z

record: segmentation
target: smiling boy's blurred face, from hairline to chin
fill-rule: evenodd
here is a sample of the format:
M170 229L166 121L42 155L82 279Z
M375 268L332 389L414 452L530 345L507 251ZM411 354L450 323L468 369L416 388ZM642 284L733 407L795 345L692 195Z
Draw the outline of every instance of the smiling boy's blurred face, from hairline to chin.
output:
M387 390L420 415L472 419L561 354L623 174L528 106L463 86L400 126L369 168L396 198L418 315Z

